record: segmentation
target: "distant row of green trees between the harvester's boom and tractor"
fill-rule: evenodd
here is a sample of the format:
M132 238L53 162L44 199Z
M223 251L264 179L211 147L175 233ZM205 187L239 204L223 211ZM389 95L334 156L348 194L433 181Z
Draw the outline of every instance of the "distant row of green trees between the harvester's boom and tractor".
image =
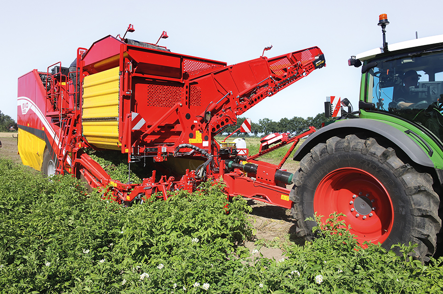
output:
M223 130L223 134L230 134L236 129L240 128L243 122L246 120L246 117L238 117L237 125L230 126ZM267 135L274 132L289 132L289 133L301 133L302 131L307 130L310 126L315 127L317 129L321 128L321 124L327 121L333 120L332 118L326 118L323 113L317 114L315 117L308 117L306 119L298 116L294 116L291 119L282 118L278 122L274 122L268 118L263 118L258 120L258 123L251 123L251 133L246 133L246 136L253 134L257 135ZM239 135L240 130L236 132Z

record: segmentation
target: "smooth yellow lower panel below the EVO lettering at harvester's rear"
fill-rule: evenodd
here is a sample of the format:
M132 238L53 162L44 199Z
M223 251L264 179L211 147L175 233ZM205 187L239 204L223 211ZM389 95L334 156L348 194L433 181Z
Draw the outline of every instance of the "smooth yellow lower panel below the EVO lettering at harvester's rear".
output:
M24 165L29 165L36 170L41 170L43 152L46 147L45 141L30 132L23 131L22 129L19 129L18 131L18 151L22 163Z

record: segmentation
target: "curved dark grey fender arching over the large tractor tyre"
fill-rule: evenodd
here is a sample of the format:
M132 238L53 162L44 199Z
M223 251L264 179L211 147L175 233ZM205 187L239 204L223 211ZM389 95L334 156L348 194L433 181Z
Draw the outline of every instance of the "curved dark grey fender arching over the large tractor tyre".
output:
M330 137L362 132L382 136L403 150L414 163L434 167L434 163L428 154L405 132L380 121L364 118L338 120L335 123L321 128L310 135L300 148L297 149L294 160L301 161L318 143L326 142Z

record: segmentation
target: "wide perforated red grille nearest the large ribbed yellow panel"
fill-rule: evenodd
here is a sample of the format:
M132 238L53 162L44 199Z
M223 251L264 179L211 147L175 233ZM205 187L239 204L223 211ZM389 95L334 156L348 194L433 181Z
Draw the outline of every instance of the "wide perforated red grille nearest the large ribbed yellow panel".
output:
M180 101L181 87L147 85L148 106L172 107Z

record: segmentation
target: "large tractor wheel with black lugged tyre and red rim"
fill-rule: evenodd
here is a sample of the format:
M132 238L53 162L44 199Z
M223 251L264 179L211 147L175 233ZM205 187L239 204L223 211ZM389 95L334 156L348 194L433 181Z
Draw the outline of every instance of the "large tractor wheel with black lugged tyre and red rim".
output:
M306 218L337 211L360 243L380 242L389 250L411 241L418 245L414 257L423 261L435 252L442 221L431 175L403 163L374 138L352 134L317 144L300 162L293 183L289 199L300 237L312 238L316 226Z

